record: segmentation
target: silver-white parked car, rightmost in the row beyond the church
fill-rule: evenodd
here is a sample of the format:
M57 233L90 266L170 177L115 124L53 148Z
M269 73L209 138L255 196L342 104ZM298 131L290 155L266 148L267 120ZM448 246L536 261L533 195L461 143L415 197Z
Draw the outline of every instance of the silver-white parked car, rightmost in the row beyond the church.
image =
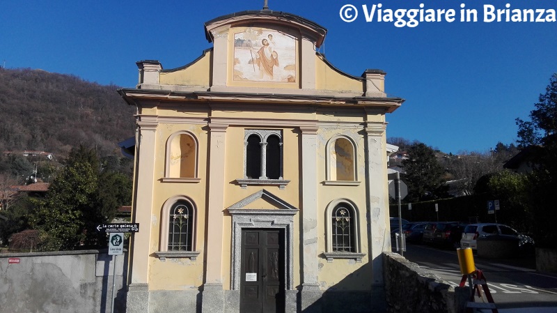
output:
M460 246L471 247L472 250L477 250L478 245L476 239L492 236L499 236L503 240L514 239L522 250L531 249L534 245L534 241L531 237L520 234L518 231L515 231L515 229L512 229L512 227L508 227L505 224L480 223L466 226L462 233L462 239L460 239Z

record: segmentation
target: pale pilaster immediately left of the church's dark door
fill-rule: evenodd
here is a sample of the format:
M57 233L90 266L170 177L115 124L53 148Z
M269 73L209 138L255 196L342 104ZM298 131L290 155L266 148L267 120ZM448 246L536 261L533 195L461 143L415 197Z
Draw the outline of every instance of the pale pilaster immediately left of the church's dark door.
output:
M222 238L224 204L224 161L226 124L209 123L209 190L207 203L207 270L203 284L203 312L224 312L224 291L222 287Z

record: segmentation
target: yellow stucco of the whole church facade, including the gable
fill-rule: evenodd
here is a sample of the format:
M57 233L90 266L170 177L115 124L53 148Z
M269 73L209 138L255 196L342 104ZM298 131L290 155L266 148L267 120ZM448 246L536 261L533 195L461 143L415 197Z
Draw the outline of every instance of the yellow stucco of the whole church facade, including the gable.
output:
M244 28L245 29L245 28ZM234 29L228 30L228 41L226 51L213 52L209 51L201 59L192 63L187 68L175 70L173 72L160 72L159 83L162 89L164 85L180 85L180 86L210 86L212 66L211 62L216 59L223 59L222 55L217 53L226 53L226 60L233 61L230 56L233 48L233 33ZM306 52L302 54L301 45L297 45L297 62L299 58L301 61L315 62L315 91L335 91L341 96L343 93L361 93L365 92L364 82L359 79L354 79L346 75L342 75L336 70L332 69L320 56L315 55L315 51ZM230 75L228 83L232 82ZM300 77L304 77L301 73ZM242 86L242 92L258 93L258 88L285 88L281 84L259 84L256 82L234 82L228 86ZM220 86L227 87L228 86ZM293 85L289 85L291 88ZM296 88L299 88L297 86ZM235 89L234 91L237 91ZM319 95L320 93L312 91L313 94ZM232 259L232 217L226 212L226 208L249 197L251 194L265 189L271 192L276 197L279 197L288 204L301 208L301 132L297 125L297 121L312 121L316 125L322 127L317 131L317 157L315 165L317 166L317 231L318 254L327 252L327 206L331 201L338 199L348 199L356 206L359 215L359 252L365 253L361 263L356 262L354 259L334 259L329 263L327 259L319 257L318 264L318 281L322 290L335 286L336 288L350 289L350 290L369 290L371 288L371 269L370 269L370 256L368 255L368 227L366 210L369 199L366 199L367 182L366 182L366 143L365 143L365 130L367 122L384 123L385 117L383 112L373 112L372 110L366 111L363 107L354 105L352 107L342 107L343 104L336 107L320 107L315 110L310 105L284 105L281 107L278 103L274 103L274 107L266 105L262 102L260 107L253 107L237 102L237 105L230 106L230 103L215 104L204 102L164 102L164 105L159 107L141 107L139 114L155 115L159 117L159 125L156 129L156 144L155 144L155 182L152 200L152 211L138 212L136 214L150 214L151 220L151 241L149 247L149 273L148 273L148 286L151 290L184 290L184 289L198 289L204 282L203 270L205 261L205 240L206 236L212 234L205 234L207 229L207 162L209 160L209 132L207 130L207 123L203 119L214 119L219 121L226 120L230 123L226 129L226 142L225 142L225 160L224 166L224 188L223 188L223 238L222 238L222 261L221 261L221 278L223 289L230 289L230 271ZM156 103L156 102L155 102ZM155 104L156 105L156 104ZM226 107L224 109L223 107ZM166 120L165 120L166 119ZM191 120L198 119L198 123L192 123ZM242 121L253 120L261 121L257 126L246 126L245 123L235 123L235 119ZM184 120L187 120L186 122ZM172 122L172 121L175 121ZM273 121L272 125L291 125L289 127L269 127L265 121ZM335 125L334 122L338 122ZM250 124L252 125L252 124ZM290 180L290 183L281 190L276 185L248 185L242 189L240 185L235 183L237 178L244 178L244 135L246 129L273 129L282 130L283 135L283 178ZM184 183L184 182L162 182L165 173L165 160L166 160L166 142L175 132L187 130L196 136L198 141L198 178L201 181L198 183ZM356 144L355 158L356 158L356 173L359 185L326 185L327 181L327 142L332 137L343 135L352 139ZM382 146L385 146L385 134L379 139ZM384 151L381 151L384 154ZM375 165L386 167L386 156L379 156L373 161ZM383 177L374 177L372 179L384 179ZM386 184L383 192L386 191ZM167 258L165 261L159 259L153 254L160 250L159 242L160 236L168 236L161 234L161 218L162 208L165 201L176 196L186 196L194 202L197 208L196 220L196 251L201 252L196 261L191 261L187 258L171 259ZM388 208L388 206L385 206ZM249 205L248 208L270 208L265 200L257 200ZM303 211L303 208L301 208ZM293 285L299 286L302 282L301 278L301 247L300 247L300 234L302 233L301 216L302 211L294 216L294 229L292 238L292 250L294 255L293 259ZM352 275L351 275L352 274Z

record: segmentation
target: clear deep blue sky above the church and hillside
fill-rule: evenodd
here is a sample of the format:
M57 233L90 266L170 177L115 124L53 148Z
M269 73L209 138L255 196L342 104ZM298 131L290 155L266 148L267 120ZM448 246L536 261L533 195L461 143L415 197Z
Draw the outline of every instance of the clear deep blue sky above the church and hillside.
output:
M454 22L396 27L366 22L362 5L382 9L454 9ZM460 6L478 22L460 22ZM557 22L484 22L483 7L557 10L554 0L269 0L269 8L328 29L320 52L340 70L387 72L386 92L406 102L387 115L388 137L418 140L446 153L489 151L515 141L515 119L527 119L557 72ZM2 1L0 62L40 68L99 84L134 87L136 61L183 66L212 47L203 23L263 1ZM354 22L340 8L359 10ZM350 12L352 13L352 12Z

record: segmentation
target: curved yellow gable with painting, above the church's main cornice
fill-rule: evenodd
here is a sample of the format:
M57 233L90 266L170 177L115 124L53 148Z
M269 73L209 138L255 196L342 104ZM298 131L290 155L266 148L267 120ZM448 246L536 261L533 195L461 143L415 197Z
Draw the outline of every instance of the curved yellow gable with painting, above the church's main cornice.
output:
M386 98L385 73L356 77L338 70L315 51L327 29L304 17L251 10L205 23L211 49L195 61L163 70L143 61L139 89L235 94L281 94Z

